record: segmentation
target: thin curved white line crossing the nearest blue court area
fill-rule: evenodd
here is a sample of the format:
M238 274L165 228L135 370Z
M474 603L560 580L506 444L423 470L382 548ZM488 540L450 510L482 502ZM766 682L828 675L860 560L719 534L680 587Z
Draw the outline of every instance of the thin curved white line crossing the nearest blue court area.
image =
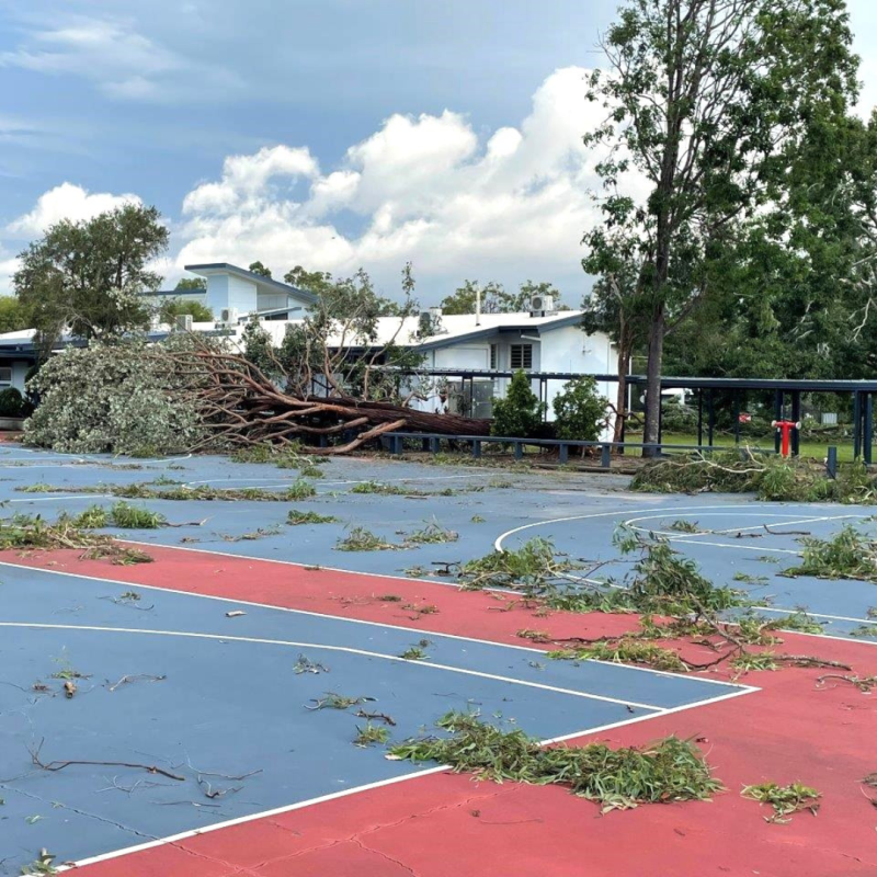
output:
M144 636L156 637L183 637L189 639L210 639L221 642L250 642L257 646L289 646L296 649L316 649L322 651L337 651L344 652L345 654L360 654L364 658L379 658L384 661L391 661L400 664L415 664L428 670L443 670L448 673L460 673L465 676L478 676L479 679L489 679L494 682L506 682L512 685L523 685L527 688L539 688L540 691L551 692L554 694L568 694L573 697L583 697L588 701L602 701L607 704L618 704L619 706L635 706L640 709L661 710L663 707L656 704L640 704L637 701L624 701L618 697L607 697L602 694L589 694L586 692L577 692L572 688L560 688L557 685L546 685L542 682L528 682L522 679L514 679L513 676L501 676L496 673L485 673L480 670L466 670L462 667L451 667L449 664L437 664L434 661L411 661L407 658L400 658L398 654L385 654L379 651L367 651L366 649L355 649L352 646L329 646L324 642L299 642L297 640L288 639L264 639L262 637L237 637L227 636L225 634L197 634L190 630L152 630L141 627L101 627L98 625L87 624L43 624L39 622L0 622L0 627L23 627L26 629L37 630L88 630L99 634L140 634ZM403 629L403 628L402 628Z

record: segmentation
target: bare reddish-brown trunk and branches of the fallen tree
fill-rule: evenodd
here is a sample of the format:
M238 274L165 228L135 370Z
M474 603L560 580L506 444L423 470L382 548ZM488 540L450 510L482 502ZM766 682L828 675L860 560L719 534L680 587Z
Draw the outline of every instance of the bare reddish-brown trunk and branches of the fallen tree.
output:
M320 454L344 454L387 432L487 435L490 423L456 414L409 407L410 399L374 399L349 395L331 372L320 377L326 395L312 391L315 380L291 381L282 372L269 376L241 354L195 337L176 350L156 356L169 367L173 391L194 405L205 435L190 451L274 445ZM346 436L341 444L319 446L320 436Z

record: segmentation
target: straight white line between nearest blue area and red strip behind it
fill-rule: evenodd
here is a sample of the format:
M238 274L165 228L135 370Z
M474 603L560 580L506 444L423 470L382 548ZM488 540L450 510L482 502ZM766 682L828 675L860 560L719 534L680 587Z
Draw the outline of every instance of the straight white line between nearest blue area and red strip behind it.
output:
M139 545L151 545L151 543L138 543L138 544ZM195 549L181 548L180 550L195 550ZM229 556L230 557L236 557L236 558L239 557L239 555L229 555ZM251 558L244 558L244 559L251 559ZM277 561L277 562L283 563L283 562L286 562L286 561ZM298 566L298 565L291 565L291 566ZM532 646L519 646L517 643L514 643L514 642L500 642L498 640L479 639L477 637L464 637L464 636L460 636L459 634L443 634L443 633L441 633L438 630L428 630L428 629L425 629L423 627L400 627L399 625L386 624L385 622L369 622L369 620L366 620L364 618L348 618L348 617L345 617L343 615L327 615L326 613L314 612L311 610L296 610L296 608L292 608L289 606L277 606L277 605L272 604L272 603L257 603L257 602L251 601L251 600L235 600L234 597L217 596L216 594L198 594L198 593L193 593L192 591L181 591L181 590L178 590L175 588L163 588L163 586L158 585L158 584L144 584L144 583L140 583L140 582L122 581L121 579L103 579L103 578L96 578L96 577L92 577L92 576L81 576L81 574L76 573L76 572L65 572L64 570L59 570L59 569L44 569L42 567L31 567L31 566L27 566L27 565L24 565L24 563L13 563L13 562L9 561L9 560L0 560L0 567L13 567L14 569L30 570L32 572L34 572L34 571L35 572L47 572L47 573L49 573L52 576L66 576L67 578L70 578L70 579L83 579L83 580L90 581L90 582L102 582L102 583L105 583L105 584L117 584L119 586L128 588L128 589L133 584L136 584L137 588L145 588L148 591L156 591L158 593L178 594L180 596L200 597L201 600L210 600L210 601L214 601L214 602L217 602L217 603L225 603L225 604L228 604L230 606L252 606L254 608L274 610L276 612L291 613L293 615L307 615L307 616L314 617L314 618L324 618L324 619L332 620L332 622L344 622L346 624L367 625L369 627L380 627L380 628L384 628L384 629L387 629L387 630L395 630L395 631L409 630L412 634L423 634L424 636L432 636L432 637L437 637L437 638L442 638L442 639L454 639L454 640L459 640L462 642L476 642L479 646L499 646L499 647L501 647L503 649L516 649L517 651L525 651L525 652L528 652L529 654L534 654L534 656L539 654L543 658L546 654L544 649L534 649ZM344 570L342 570L342 571L344 571ZM368 574L368 573L363 573L363 574ZM423 581L423 580L422 579L411 579L410 581L420 582L420 581ZM113 629L116 629L116 628L113 628ZM637 673L647 673L647 674L653 675L653 676L671 676L673 679L684 677L684 676L681 676L680 673L670 673L670 672L668 672L665 670L652 670L649 667L636 667L634 664L620 664L620 663L615 663L615 662L612 662L612 661L597 661L597 660L595 660L593 658L586 659L586 663L607 664L610 667L616 667L616 668L617 667L623 667L626 670L633 670L633 671L635 671ZM738 683L722 682L721 680L716 680L716 679L703 679L702 676L692 676L692 679L696 679L698 682L706 682L709 685L722 685L726 688L730 687L730 686L745 687L745 686L738 685Z

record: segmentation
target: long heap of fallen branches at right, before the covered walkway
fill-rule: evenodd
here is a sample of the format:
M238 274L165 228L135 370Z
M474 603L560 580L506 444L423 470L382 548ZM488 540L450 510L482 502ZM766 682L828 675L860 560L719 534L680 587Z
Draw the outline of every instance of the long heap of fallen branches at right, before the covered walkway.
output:
M877 503L877 476L861 463L843 464L835 479L815 462L750 448L672 456L643 466L633 490L653 493L758 493L797 502Z

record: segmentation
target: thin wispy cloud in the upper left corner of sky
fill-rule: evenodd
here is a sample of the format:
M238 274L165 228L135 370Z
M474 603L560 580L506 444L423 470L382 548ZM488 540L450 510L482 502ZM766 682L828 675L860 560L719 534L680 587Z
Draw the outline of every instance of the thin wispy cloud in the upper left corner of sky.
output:
M126 21L78 18L54 29L30 31L0 66L52 76L78 76L121 100L172 102L220 95L237 75L195 64L138 33Z

